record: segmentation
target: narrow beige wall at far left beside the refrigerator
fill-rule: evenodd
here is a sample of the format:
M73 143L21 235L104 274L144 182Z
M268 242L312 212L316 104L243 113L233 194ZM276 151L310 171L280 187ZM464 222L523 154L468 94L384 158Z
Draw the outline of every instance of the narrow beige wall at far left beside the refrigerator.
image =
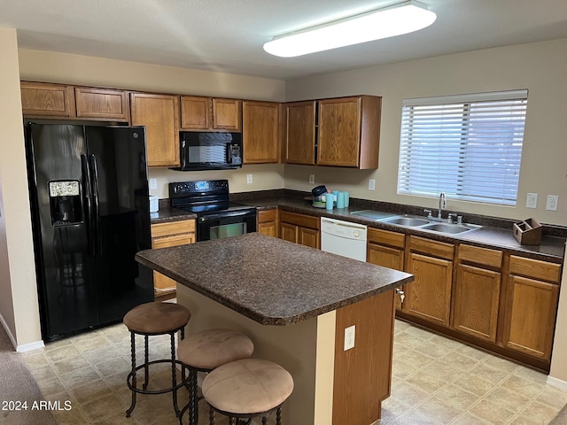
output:
M41 340L16 31L0 28L0 314L19 347Z

